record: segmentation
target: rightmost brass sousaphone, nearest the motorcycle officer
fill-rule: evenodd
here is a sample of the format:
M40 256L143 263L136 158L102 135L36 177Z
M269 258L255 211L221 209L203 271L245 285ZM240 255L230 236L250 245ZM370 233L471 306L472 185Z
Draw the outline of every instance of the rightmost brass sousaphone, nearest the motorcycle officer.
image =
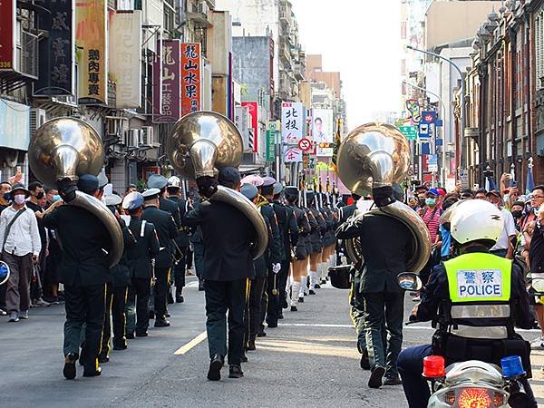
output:
M410 165L409 156L410 145L398 129L384 123L367 123L351 131L340 145L338 175L345 187L367 196L373 188L402 182ZM431 238L423 220L400 201L369 212L398 219L410 230L412 254L407 267L408 272L418 273L431 255ZM364 217L364 213L356 217ZM357 239L346 242L348 256L355 264L362 262L360 245L364 243Z

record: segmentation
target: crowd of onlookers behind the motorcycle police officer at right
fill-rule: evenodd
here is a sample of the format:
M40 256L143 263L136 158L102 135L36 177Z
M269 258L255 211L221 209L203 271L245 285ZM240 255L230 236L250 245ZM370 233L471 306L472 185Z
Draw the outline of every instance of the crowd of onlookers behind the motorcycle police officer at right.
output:
M533 287L544 287L544 237L540 222L544 219L544 185L539 185L520 194L520 189L511 182L509 174L503 174L496 189L461 189L452 192L432 189L421 185L408 196L408 205L417 211L429 229L432 255L421 272L423 282L429 277L432 267L452 256L452 239L443 212L454 203L465 199L485 199L502 212L504 229L491 253L507 257L516 262L525 272L528 284L538 282L529 288L534 296L535 327L541 334L531 343L533 348L544 348L544 296L539 296ZM414 301L419 300L418 296Z

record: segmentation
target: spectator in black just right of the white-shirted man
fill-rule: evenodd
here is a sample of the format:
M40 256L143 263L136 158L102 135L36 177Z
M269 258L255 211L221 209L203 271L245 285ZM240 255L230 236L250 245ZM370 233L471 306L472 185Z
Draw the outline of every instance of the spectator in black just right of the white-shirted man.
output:
M44 186L39 181L33 181L28 185L30 191L30 198L26 201L26 207L32 209L38 221L38 231L40 233L40 242L42 243L42 250L40 251L40 257L38 263L33 268L33 278L30 287L30 295L32 306L46 307L49 303L45 302L43 296L44 273L45 273L45 254L47 252L47 232L42 224L42 217L44 213L43 206L40 206L40 201L44 200Z

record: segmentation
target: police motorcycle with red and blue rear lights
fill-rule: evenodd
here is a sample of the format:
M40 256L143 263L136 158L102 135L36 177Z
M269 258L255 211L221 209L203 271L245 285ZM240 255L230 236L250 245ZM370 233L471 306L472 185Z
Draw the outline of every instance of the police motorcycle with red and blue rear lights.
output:
M397 280L404 291L416 292L423 288L420 277L411 272L399 274ZM411 316L405 325L414 323L419 322ZM500 365L469 360L446 367L442 355L423 358L422 375L432 390L427 407L536 408L520 355L503 357Z

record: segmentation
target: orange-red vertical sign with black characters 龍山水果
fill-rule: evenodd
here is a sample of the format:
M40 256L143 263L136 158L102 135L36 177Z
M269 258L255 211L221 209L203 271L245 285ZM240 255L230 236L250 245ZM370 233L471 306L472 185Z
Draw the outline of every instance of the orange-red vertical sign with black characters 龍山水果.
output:
M200 110L200 44L181 44L181 116Z

